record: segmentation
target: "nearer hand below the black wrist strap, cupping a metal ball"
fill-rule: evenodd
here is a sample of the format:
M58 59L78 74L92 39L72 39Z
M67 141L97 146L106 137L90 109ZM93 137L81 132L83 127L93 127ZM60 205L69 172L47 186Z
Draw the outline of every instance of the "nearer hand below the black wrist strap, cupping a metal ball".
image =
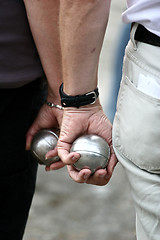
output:
M76 138L85 134L101 136L107 141L111 150L107 169L99 169L93 175L91 175L89 169L78 172L72 166L79 159L80 154L76 152L70 153L71 145ZM64 164L69 165L68 172L74 181L94 185L105 185L109 182L117 164L117 159L112 147L112 125L103 113L98 101L94 105L87 105L79 109L66 108L64 110L57 147L61 160Z

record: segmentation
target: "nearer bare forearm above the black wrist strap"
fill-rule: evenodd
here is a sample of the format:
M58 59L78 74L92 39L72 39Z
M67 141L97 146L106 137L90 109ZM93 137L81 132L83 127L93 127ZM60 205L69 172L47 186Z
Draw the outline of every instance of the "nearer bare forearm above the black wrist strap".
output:
M60 40L64 92L83 94L97 86L99 55L110 0L61 0Z

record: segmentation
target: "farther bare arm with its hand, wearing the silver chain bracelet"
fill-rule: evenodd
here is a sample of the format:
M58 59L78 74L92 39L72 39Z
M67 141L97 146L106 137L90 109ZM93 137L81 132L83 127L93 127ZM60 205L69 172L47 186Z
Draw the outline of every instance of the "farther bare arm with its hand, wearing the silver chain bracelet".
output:
M59 0L24 0L31 32L48 82L47 100L60 104L59 86L62 82L61 50L59 40ZM41 128L58 127L63 112L44 104L28 130L26 149L33 135ZM55 153L57 154L57 152ZM48 157L51 155L48 155ZM58 163L59 164L59 163Z

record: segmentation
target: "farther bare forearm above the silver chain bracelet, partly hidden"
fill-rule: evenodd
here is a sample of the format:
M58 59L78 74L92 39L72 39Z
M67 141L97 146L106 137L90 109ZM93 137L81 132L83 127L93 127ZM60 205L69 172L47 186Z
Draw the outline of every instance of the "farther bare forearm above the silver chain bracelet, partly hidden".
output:
M24 0L30 28L47 77L49 96L59 101L62 82L59 0ZM59 102L57 102L59 103Z

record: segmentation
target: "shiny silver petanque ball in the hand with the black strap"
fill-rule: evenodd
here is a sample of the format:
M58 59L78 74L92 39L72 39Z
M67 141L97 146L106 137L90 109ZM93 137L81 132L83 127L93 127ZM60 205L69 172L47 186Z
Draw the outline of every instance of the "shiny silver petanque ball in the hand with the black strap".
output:
M88 168L94 173L100 168L105 168L110 158L109 145L97 135L84 135L77 138L70 152L78 152L81 155L73 164L78 171Z

